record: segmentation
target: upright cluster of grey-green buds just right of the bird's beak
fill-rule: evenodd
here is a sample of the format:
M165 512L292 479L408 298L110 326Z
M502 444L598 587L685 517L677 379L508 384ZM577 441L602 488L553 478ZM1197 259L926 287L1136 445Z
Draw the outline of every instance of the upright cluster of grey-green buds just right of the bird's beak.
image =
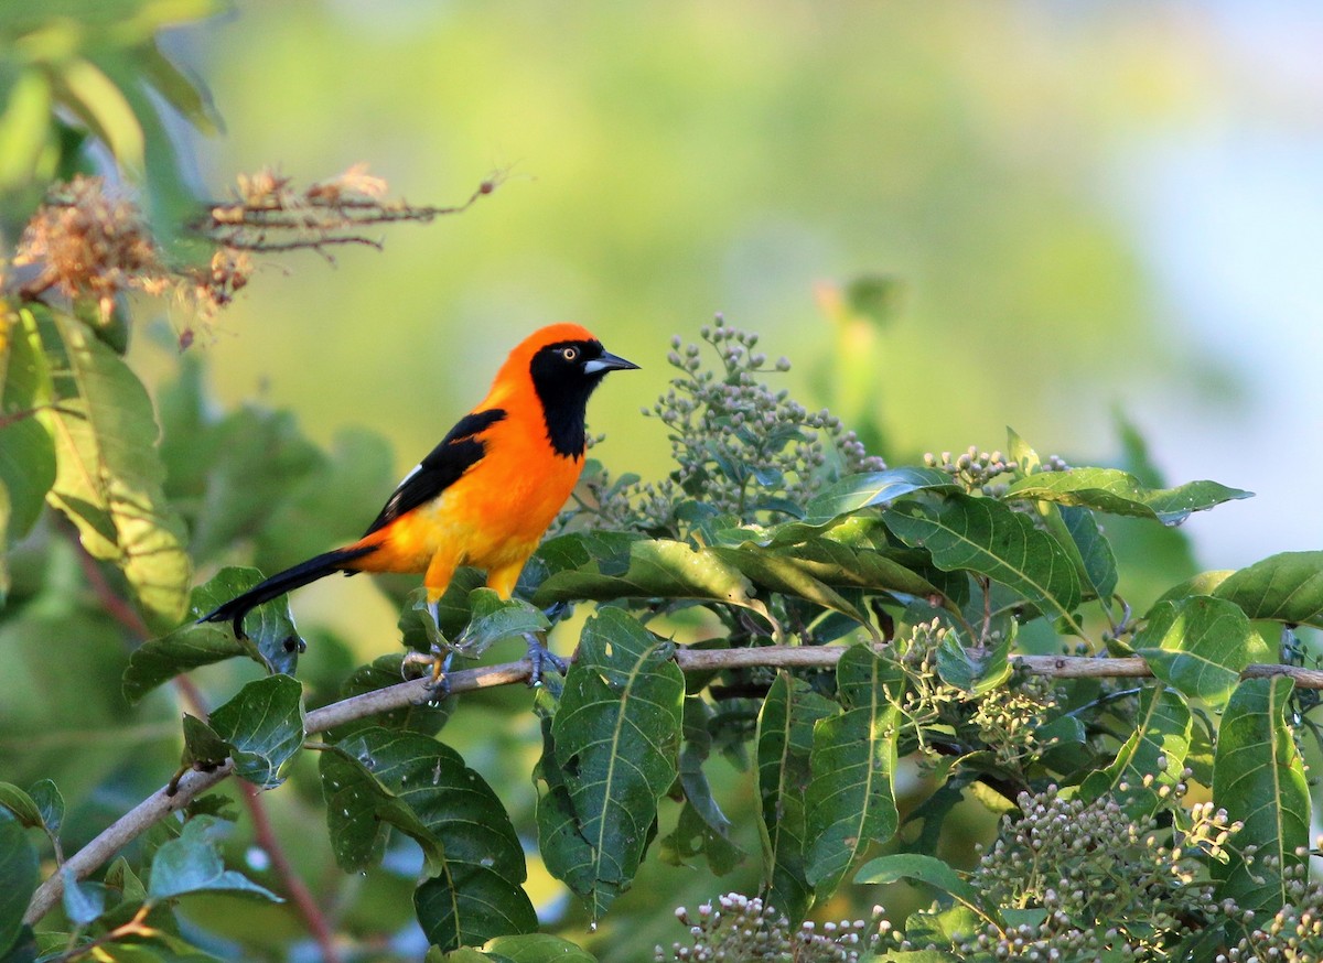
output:
M704 364L700 345L673 337L668 361L680 374L643 411L669 430L676 470L660 484L590 479L598 524L676 532L687 501L738 523L783 519L840 476L886 467L830 411L810 411L763 382L769 373L790 370L790 361L769 361L757 351L758 335L718 316L700 336L720 366Z

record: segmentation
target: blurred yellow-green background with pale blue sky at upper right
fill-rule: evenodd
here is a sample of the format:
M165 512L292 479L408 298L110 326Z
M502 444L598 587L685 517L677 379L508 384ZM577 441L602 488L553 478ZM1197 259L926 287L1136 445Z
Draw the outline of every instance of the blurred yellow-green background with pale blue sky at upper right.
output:
M229 123L208 192L263 164L368 161L441 204L511 177L385 254L269 263L201 351L226 399L378 429L404 471L511 344L581 320L644 365L591 423L650 476L667 336L724 312L839 402L815 286L881 274L897 308L849 356L893 460L1011 425L1101 462L1119 407L1170 480L1259 493L1191 524L1204 564L1315 548L1320 38L1304 4L241 3L172 38Z

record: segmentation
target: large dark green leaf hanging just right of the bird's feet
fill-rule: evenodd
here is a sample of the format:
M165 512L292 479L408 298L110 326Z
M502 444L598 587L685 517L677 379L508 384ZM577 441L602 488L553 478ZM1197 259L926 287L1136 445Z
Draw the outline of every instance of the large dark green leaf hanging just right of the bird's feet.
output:
M632 881L679 771L684 676L672 653L628 614L603 608L583 626L565 676L538 836L546 868L593 919Z

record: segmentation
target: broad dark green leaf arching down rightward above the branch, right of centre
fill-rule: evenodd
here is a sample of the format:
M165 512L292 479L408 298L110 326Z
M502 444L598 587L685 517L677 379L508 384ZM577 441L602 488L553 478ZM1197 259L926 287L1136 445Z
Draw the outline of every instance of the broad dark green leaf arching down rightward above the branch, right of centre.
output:
M1080 577L1061 545L1028 516L994 499L949 495L938 504L902 503L882 519L906 545L926 548L939 569L987 575L1074 623Z

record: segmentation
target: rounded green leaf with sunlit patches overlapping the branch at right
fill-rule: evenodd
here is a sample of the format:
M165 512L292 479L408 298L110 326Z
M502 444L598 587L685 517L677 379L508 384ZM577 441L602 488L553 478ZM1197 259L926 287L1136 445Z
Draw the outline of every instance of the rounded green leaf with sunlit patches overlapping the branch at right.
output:
M1131 644L1162 681L1217 709L1226 705L1241 669L1267 655L1245 612L1207 595L1159 602Z

